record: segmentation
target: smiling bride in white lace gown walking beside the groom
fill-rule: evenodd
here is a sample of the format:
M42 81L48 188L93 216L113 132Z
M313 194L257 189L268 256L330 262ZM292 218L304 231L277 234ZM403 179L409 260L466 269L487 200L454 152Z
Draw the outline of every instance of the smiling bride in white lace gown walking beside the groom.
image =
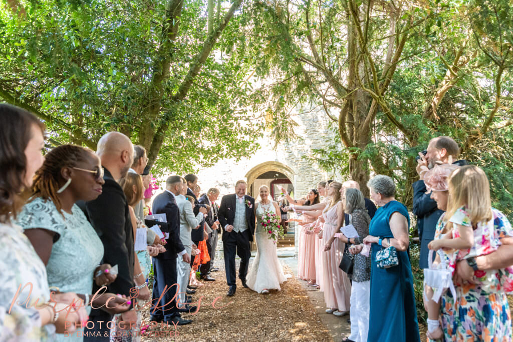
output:
M257 216L257 228L255 240L257 241L257 255L246 277L249 288L258 293L269 293L269 290L280 290L280 284L287 280L283 273L278 254L276 252L277 241L269 238L267 230L262 227L262 215L271 212L280 215L280 208L276 202L269 198L269 188L265 185L260 189L260 202L255 205Z

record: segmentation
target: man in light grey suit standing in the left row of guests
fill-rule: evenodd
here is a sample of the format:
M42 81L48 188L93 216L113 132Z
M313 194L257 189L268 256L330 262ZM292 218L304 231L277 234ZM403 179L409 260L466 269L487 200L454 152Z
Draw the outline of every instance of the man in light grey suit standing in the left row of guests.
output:
M194 215L192 211L192 204L189 202L185 194L187 193L187 182L185 179L182 179L183 187L180 195L175 197L176 205L180 210L180 240L182 245L184 245L187 253L191 254L192 250L192 239L191 239L191 231L193 229L199 229L200 224L204 218L207 210L205 208L200 208L198 215ZM180 298L180 303L186 303L185 292L187 291L187 284L189 283L189 274L191 272L191 266L189 263L186 263L183 260L178 260L176 263L176 274L177 274L177 283L180 285L180 292L178 297ZM186 305L181 311L194 312L196 307L189 308Z

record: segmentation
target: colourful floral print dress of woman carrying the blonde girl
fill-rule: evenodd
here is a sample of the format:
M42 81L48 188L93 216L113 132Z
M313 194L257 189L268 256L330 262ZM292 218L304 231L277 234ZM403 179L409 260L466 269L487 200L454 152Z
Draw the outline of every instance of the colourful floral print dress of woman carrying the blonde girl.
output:
M476 231L490 234L488 241L483 242L483 238L478 240L478 244L482 246L482 252L488 251L488 248L494 248L492 246L497 242L500 243L503 237L513 237L513 229L506 216L496 209L492 209L492 213L492 220L478 224L476 229ZM435 239L443 236L442 230L445 226L443 217L442 215L438 221ZM495 280L489 276L490 273L494 274ZM513 272L508 268L486 272L476 271L475 275L482 284L457 286L456 299L452 297L450 291L442 296L443 340L511 341L511 315L506 293L513 290ZM434 340L430 341L434 342Z

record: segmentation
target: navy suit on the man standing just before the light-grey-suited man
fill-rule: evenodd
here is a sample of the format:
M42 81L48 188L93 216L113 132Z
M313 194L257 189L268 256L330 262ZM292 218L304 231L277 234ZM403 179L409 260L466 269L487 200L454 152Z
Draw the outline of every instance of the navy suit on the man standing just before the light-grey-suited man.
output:
M176 293L177 284L176 257L182 257L177 254L182 254L185 251L184 245L182 245L180 240L180 210L176 205L173 194L167 190L155 197L152 209L154 214L166 214L169 225L169 231L166 231L166 233L169 233L169 237L167 239L166 252L153 257L153 306L150 309L150 314L152 320L163 319L169 321L173 317L180 316L176 308L176 300L172 299ZM166 285L167 292L162 297L161 302L157 304L156 301L164 292ZM163 309L156 309L153 312L154 306L163 307L165 304L168 305Z

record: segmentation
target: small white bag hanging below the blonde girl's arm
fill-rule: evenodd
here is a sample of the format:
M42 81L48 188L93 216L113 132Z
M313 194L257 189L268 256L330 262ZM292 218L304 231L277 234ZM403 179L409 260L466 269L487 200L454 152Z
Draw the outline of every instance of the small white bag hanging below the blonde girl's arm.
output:
M456 289L452 284L452 272L447 269L445 258L440 255L439 267L433 267L433 250L429 250L427 260L429 268L424 269L424 285L433 289L431 300L438 303L445 289L450 289L452 298L456 299Z

